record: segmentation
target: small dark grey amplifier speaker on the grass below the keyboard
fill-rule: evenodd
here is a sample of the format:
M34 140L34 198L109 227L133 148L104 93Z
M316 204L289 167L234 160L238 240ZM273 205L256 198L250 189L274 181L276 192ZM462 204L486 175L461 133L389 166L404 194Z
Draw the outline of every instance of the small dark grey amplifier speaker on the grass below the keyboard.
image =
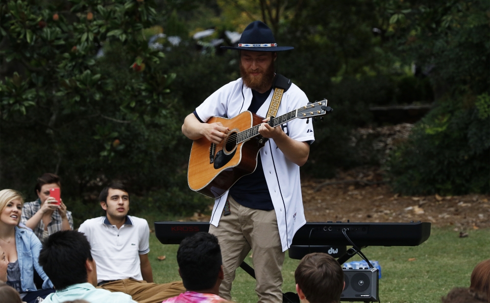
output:
M341 302L378 302L378 269L343 269Z

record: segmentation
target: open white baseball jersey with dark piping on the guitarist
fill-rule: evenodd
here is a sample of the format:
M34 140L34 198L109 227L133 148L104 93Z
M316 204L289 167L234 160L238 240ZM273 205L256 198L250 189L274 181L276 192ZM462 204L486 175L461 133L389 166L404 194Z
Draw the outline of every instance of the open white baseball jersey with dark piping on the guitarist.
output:
M257 115L266 117L270 100L274 90L270 92L267 100L257 111ZM246 111L252 101L252 90L243 85L242 78L230 82L210 95L196 108L199 118L206 122L210 117L235 117ZM281 100L277 117L291 112L308 103L306 94L296 85L292 84ZM315 140L313 122L307 124L306 119L293 119L282 125L284 132L297 141ZM277 217L277 225L281 236L282 250L286 251L296 231L306 223L301 197L301 183L299 180L299 166L284 156L270 139L260 149L262 167L269 188L270 197ZM250 190L253 190L251 188ZM211 214L211 224L218 226L223 212L228 191L217 198Z

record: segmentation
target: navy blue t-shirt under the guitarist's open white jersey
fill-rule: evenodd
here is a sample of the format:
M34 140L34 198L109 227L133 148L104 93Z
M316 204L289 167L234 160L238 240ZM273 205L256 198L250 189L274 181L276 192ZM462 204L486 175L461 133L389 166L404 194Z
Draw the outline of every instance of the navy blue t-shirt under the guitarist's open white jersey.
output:
M259 108L264 104L270 91L259 93L252 90L252 103L248 111L257 113ZM262 168L260 153L257 156L257 168L249 175L243 176L230 188L229 193L235 201L245 207L256 210L273 210L272 200L270 199L269 188L267 187L266 176Z

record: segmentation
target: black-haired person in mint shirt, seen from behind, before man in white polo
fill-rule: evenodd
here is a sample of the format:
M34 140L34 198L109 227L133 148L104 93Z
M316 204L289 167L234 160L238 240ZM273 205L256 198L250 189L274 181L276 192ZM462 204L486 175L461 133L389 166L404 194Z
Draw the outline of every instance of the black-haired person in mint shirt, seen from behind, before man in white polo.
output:
M97 265L83 233L62 231L45 241L39 264L53 282L56 292L43 303L86 300L89 303L135 303L131 296L97 286Z

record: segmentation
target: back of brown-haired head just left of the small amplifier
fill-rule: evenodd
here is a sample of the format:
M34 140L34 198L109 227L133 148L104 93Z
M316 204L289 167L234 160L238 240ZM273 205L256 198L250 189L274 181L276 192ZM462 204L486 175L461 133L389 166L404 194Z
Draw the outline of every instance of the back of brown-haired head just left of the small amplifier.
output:
M337 303L345 286L343 270L330 255L304 256L294 272L301 303Z

